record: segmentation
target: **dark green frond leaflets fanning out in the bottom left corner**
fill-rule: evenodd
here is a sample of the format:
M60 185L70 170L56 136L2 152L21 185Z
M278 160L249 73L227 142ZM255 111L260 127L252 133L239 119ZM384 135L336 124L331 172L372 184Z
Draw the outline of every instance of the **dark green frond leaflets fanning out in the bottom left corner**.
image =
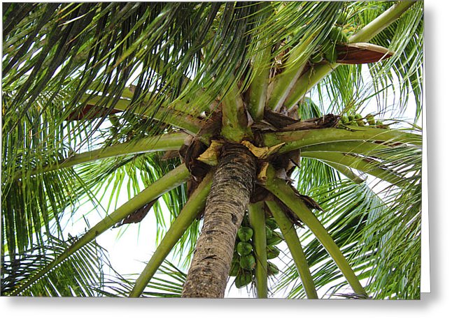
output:
M17 254L15 259L2 261L1 295L10 295L20 285L27 283L36 272L66 251L71 243L71 238L64 241L50 236L45 246L33 245L24 253ZM20 296L99 296L95 290L104 283L102 270L105 260L104 250L91 242L34 281Z

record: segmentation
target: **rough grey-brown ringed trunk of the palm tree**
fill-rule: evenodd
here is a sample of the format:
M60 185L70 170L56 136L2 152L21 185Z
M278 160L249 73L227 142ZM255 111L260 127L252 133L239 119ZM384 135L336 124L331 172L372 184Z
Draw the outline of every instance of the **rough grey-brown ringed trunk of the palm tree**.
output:
M246 147L240 144L223 147L182 297L225 296L236 234L255 176L256 158Z

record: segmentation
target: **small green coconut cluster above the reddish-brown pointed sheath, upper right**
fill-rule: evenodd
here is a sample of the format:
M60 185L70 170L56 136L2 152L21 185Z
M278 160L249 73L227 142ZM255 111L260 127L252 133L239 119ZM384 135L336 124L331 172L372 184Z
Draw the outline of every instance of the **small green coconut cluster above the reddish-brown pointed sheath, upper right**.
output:
M344 33L343 25L346 24L346 13L342 13L336 22L336 25L332 27L328 37L322 45L319 45L315 52L313 52L309 61L313 64L318 64L320 61L328 61L335 63L337 61L337 44L348 43L346 33Z

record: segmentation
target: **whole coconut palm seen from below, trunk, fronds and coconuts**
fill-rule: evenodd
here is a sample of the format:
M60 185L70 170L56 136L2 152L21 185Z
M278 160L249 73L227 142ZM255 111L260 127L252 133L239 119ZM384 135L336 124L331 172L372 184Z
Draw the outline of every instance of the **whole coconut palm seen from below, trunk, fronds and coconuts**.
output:
M3 3L2 73L2 295L420 297L422 1Z

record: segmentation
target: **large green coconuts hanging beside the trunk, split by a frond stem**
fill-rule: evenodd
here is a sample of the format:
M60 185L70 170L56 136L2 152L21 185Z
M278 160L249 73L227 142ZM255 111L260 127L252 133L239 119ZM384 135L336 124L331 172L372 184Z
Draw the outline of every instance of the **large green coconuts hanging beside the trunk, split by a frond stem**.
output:
M279 249L277 244L281 243L283 236L280 232L276 232L278 224L274 218L267 218L265 221L265 234L267 237L267 260L277 258ZM243 224L237 232L234 255L232 257L232 266L229 276L234 276L236 288L243 288L253 281L255 276L256 257L253 250L253 229ZM267 274L274 276L278 274L279 269L276 264L267 261Z

